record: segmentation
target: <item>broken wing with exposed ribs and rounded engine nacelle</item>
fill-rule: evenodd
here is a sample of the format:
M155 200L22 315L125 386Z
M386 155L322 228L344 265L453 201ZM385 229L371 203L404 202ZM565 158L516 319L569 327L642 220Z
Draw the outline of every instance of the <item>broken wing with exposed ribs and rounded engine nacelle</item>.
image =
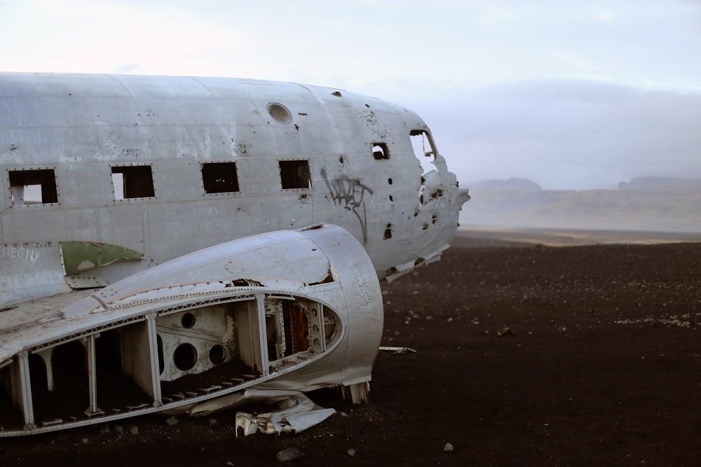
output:
M97 291L4 309L0 436L207 414L254 390L340 385L359 402L382 323L374 266L340 227L212 246Z

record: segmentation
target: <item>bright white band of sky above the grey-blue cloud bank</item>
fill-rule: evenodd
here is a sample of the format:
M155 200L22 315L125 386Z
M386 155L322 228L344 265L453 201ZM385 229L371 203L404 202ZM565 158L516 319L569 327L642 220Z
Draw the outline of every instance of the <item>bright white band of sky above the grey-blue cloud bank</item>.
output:
M701 89L684 2L8 2L6 70L216 74L439 88L597 79ZM697 57L698 55L694 55ZM686 59L686 60L685 60ZM681 72L680 72L681 71ZM329 83L328 80L341 83Z

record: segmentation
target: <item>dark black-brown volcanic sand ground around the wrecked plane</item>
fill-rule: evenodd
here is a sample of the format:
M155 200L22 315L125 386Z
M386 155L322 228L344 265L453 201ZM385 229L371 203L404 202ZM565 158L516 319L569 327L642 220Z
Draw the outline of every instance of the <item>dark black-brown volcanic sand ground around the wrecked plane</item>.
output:
M223 412L0 438L0 466L701 465L701 244L457 243L383 284L383 344L416 352L381 352L367 405L315 391L338 413L286 436Z

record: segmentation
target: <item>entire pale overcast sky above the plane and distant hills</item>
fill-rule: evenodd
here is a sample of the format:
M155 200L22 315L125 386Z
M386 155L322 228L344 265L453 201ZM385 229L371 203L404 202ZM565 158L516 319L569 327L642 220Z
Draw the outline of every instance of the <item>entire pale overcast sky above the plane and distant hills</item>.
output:
M698 0L0 0L0 71L361 92L421 115L468 188L701 178Z

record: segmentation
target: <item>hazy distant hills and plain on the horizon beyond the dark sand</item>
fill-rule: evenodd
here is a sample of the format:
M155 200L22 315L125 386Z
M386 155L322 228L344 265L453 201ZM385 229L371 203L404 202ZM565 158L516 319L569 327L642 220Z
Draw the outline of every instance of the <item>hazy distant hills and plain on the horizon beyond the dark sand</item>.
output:
M611 190L543 190L529 179L470 186L461 225L701 231L701 179L642 177Z

